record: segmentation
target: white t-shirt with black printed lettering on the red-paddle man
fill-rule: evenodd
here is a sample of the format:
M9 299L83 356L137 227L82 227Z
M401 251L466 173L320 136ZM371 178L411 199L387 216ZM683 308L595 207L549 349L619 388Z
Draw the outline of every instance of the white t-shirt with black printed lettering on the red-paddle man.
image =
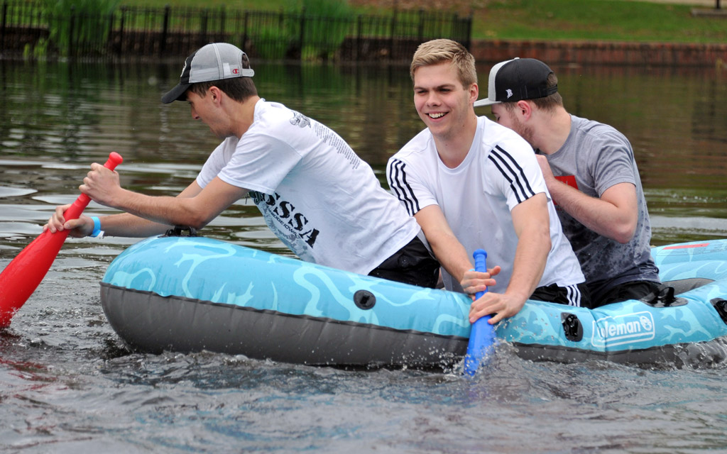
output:
M371 167L332 129L260 100L241 139L225 139L197 177L249 190L270 230L297 256L368 274L420 231Z

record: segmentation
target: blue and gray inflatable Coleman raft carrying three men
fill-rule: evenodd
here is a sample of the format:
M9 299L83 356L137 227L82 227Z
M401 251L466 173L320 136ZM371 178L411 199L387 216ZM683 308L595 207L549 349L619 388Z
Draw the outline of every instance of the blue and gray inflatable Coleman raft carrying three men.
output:
M726 356L727 240L652 251L674 288L585 309L528 301L497 325L522 357L626 363ZM311 365L448 368L467 350L470 299L220 240L154 237L113 260L109 323L143 352L207 350Z

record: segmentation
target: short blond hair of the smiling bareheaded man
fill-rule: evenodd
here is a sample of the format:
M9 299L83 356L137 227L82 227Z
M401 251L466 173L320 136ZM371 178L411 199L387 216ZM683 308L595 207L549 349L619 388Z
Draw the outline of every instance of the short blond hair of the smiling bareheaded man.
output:
M433 39L419 44L409 67L411 80L414 81L414 71L418 68L438 65L442 62L451 62L451 65L457 69L457 77L462 82L462 86L477 84L475 57L467 51L465 46L451 39Z

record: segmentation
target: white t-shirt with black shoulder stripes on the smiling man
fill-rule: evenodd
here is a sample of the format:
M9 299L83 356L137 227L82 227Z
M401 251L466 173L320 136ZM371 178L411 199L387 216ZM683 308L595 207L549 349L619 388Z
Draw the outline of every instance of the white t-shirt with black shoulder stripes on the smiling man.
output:
M510 283L518 246L510 211L545 192L551 248L538 286L555 283L567 287L584 282L533 149L515 131L479 117L470 152L457 168L449 169L439 158L432 134L425 129L389 159L387 179L393 194L412 216L425 206L438 205L470 260L476 249L487 251L488 267L502 267L497 285L490 288L498 293L504 293ZM462 291L444 269L442 275L447 289Z

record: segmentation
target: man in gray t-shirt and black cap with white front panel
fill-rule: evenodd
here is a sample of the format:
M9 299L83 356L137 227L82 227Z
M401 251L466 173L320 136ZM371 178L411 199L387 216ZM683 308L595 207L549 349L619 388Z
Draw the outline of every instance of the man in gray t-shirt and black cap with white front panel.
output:
M646 199L628 139L568 113L558 78L539 60L494 65L488 89L475 106L491 105L495 120L536 150L593 307L659 291Z

